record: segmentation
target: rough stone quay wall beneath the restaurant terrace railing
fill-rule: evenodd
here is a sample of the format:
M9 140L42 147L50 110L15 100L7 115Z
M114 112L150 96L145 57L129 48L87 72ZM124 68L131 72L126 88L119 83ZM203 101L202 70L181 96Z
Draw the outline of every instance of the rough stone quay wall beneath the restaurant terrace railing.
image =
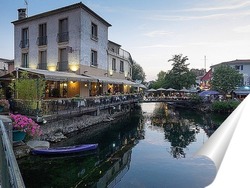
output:
M96 109L96 111L91 114L74 114L64 116L58 120L53 120L51 122L41 125L43 134L39 138L40 140L46 140L49 142L60 142L63 139L67 138L67 135L81 131L86 128L90 129L93 125L102 126L102 122L109 122L120 116L124 116L129 113L136 103L126 104L126 105L117 105L112 109Z

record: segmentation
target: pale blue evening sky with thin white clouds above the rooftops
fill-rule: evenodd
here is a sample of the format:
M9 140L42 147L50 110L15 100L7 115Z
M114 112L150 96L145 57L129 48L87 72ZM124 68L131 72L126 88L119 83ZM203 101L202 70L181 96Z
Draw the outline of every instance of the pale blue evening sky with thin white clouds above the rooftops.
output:
M80 0L26 0L28 16ZM247 0L83 0L109 22L109 40L130 52L146 81L172 68L174 55L189 68L250 59L250 1ZM25 0L0 0L0 58L14 59L14 26Z

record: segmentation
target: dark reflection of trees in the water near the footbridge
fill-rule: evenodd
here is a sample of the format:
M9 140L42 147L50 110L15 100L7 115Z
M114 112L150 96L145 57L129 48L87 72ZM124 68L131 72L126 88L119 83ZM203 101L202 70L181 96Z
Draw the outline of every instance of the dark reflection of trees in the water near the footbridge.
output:
M171 144L170 154L176 159L186 157L184 149L196 142L200 128L210 136L224 120L221 116L212 119L207 114L168 108L166 103L156 103L150 119L152 125L164 128L165 139Z

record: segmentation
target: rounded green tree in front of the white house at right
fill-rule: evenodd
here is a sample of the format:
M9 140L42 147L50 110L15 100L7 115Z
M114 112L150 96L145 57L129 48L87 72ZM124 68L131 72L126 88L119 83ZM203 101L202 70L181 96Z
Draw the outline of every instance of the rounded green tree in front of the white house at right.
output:
M243 75L228 65L220 65L213 71L212 89L226 95L242 83Z

